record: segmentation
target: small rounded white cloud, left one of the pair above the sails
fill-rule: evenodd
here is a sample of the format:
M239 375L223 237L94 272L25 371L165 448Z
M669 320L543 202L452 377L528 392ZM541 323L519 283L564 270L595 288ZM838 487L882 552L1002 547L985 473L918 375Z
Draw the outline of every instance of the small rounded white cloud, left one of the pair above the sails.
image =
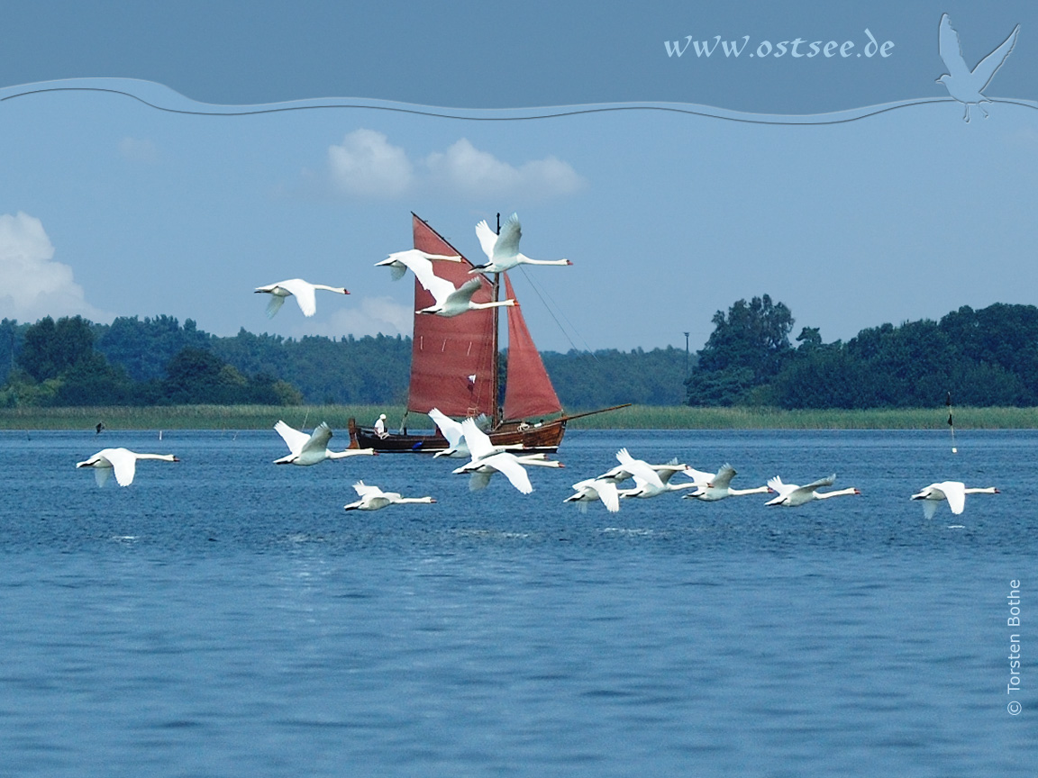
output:
M356 130L342 145L329 146L328 166L335 187L351 195L395 197L413 178L404 149L374 130Z

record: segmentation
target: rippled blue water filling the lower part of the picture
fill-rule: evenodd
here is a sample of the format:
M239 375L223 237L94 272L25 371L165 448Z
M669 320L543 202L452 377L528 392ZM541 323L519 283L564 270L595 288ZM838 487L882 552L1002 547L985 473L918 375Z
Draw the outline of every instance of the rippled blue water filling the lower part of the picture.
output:
M163 437L0 433L0 775L1034 775L1036 434L571 432L529 496ZM115 445L182 462L75 470ZM863 495L564 505L620 446ZM926 521L945 479L1002 494Z

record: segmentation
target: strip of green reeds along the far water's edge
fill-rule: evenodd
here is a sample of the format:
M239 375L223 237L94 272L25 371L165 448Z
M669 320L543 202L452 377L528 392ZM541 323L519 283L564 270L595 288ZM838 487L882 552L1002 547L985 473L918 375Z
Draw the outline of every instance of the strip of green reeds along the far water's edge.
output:
M577 413L577 411L570 411ZM379 414L394 432L401 406L154 406L0 409L0 429L267 429L278 419L296 427L327 421L346 437L347 422L371 425ZM957 429L1038 429L1038 408L956 408ZM430 429L425 414L410 414L411 429ZM785 411L773 408L633 406L585 416L571 429L947 429L941 408Z

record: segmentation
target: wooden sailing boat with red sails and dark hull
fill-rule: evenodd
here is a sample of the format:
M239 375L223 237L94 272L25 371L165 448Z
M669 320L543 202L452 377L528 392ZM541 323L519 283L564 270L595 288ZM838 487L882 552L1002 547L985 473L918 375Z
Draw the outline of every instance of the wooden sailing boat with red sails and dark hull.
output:
M460 262L435 262L438 276L456 287L479 278L481 288L472 295L472 302L488 303L497 300L498 278L504 275L506 296L515 298L508 275L497 274L493 282L484 275L470 275L474 266L458 249L413 213L411 217L414 248L429 254L461 256ZM418 311L433 303L433 296L415 279L414 309ZM518 305L508 308L509 359L504 402L500 405L498 310L472 310L449 318L415 314L407 413L427 414L438 408L447 416L485 415L490 419L488 434L495 446L554 451L566 434L566 422L588 414L563 414L562 404ZM357 425L354 419L350 419L349 427L351 447L385 452L447 448L446 440L438 430L432 435L409 435L405 427L400 434L382 438L374 428Z

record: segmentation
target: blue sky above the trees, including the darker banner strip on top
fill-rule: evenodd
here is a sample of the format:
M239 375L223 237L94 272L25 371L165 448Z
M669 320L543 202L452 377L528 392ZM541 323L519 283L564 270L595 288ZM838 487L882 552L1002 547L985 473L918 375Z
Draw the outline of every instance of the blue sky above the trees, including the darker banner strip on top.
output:
M373 266L410 246L412 211L473 259L475 223L518 211L524 253L572 259L513 278L535 339L555 351L683 348L685 331L696 349L714 311L765 293L790 306L794 335L820 327L825 340L1034 302L1029 4L557 5L13 11L0 51L0 315L409 334L410 282ZM944 11L971 65L1020 25L985 91L1021 104L962 120L935 83ZM864 50L865 28L893 41L885 60L693 60L663 45L720 34L748 35L750 52L798 36ZM275 102L305 110L241 108ZM405 103L432 109L385 110ZM609 110L503 110L577 104ZM894 107L857 110L879 104ZM201 115L228 111L244 115ZM830 111L852 120L782 118ZM767 123L774 114L787 123ZM268 321L251 289L295 276L352 294L319 297L313 318L288 305Z

